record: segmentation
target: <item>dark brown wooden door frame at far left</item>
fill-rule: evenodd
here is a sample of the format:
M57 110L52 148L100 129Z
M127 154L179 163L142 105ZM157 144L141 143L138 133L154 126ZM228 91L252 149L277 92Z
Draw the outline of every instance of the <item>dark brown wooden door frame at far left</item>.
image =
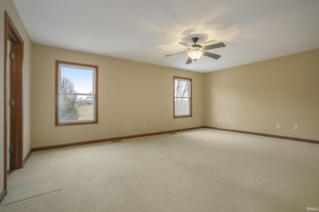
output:
M10 19L8 13L5 11L4 12L4 189L6 190L6 154L7 154L7 108L8 108L8 102L7 102L7 80L8 80L8 65L7 65L7 40L13 42L13 43L18 43L21 44L21 49L19 52L19 55L21 57L21 60L19 60L18 63L18 71L19 71L19 89L18 89L18 99L16 102L19 102L16 104L17 106L17 111L18 111L18 117L17 117L17 141L15 146L15 151L12 152L14 154L14 157L16 158L16 161L14 162L15 164L13 165L13 169L16 168L22 168L23 167L23 94L22 94L22 89L23 89L23 40L18 33L17 29L15 28L12 20ZM9 88L10 89L10 88ZM11 153L11 154L12 154ZM11 166L11 164L10 164ZM11 167L10 167L11 169Z

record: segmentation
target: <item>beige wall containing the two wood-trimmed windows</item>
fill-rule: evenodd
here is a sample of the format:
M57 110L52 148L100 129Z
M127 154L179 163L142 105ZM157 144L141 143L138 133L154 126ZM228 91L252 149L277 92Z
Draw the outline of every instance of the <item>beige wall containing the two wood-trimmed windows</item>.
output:
M54 126L55 60L99 66L98 124ZM173 76L192 78L193 117L173 119ZM32 44L31 82L32 147L203 124L203 74L197 72Z

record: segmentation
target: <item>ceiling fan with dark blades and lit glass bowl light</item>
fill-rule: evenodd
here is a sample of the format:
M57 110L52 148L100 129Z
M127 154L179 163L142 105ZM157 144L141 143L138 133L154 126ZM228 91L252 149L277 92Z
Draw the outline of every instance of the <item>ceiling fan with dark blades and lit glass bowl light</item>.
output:
M188 43L185 43L185 42L179 42L181 45L187 47L188 51L175 53L175 54L171 54L171 55L165 55L165 57L172 56L172 55L178 55L178 54L182 54L182 53L188 53L189 57L188 57L188 60L186 61L186 64L190 64L193 60L197 61L200 58L200 56L202 56L202 55L210 57L210 58L214 58L217 60L218 58L221 57L220 55L206 52L205 50L216 49L216 48L221 48L221 47L226 46L223 42L212 44L209 46L201 46L201 45L196 44L198 41L198 38L192 38L191 40L195 43L194 45L189 45Z

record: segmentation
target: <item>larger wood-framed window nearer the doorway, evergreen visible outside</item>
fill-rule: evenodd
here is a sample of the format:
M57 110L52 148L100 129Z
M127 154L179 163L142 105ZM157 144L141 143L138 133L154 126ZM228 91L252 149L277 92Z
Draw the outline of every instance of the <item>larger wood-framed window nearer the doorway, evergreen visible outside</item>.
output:
M55 62L55 126L98 123L98 66Z

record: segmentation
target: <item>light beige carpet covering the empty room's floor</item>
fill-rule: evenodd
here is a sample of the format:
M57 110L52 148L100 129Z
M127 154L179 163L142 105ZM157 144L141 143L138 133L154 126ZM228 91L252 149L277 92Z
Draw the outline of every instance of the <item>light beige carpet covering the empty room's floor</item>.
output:
M306 212L319 144L211 129L33 152L0 212Z

